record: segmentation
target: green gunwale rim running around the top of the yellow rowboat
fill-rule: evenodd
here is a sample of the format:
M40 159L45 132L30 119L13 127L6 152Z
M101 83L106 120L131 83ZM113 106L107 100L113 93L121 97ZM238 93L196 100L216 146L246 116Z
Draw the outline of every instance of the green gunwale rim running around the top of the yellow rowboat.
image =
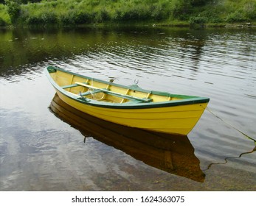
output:
M145 89L139 88L139 86L137 85L131 85L131 86L119 85L114 82L107 82L101 79L86 77L84 75L76 74L76 73L73 73L72 71L66 71L62 68L57 68L55 66L48 66L45 69L45 71L49 81L58 91L60 91L60 93L63 93L63 95L68 96L69 98L72 98L77 102L88 104L95 107L107 107L107 108L117 108L117 109L142 109L142 108L156 108L156 107L174 107L174 106L187 105L187 104L200 104L200 103L207 103L210 101L210 99L207 97L187 96L187 95L171 94L171 93L155 91L155 90L145 90ZM176 98L179 98L180 100L173 100L173 101L166 101L166 102L146 102L146 103L134 101L134 102L129 102L128 104L125 104L125 103L99 102L94 99L85 99L85 98L72 95L72 93L67 92L66 90L61 88L59 85L57 85L57 83L52 79L52 77L49 76L49 73L56 72L56 71L63 71L65 73L72 74L77 77L93 79L94 81L97 81L97 82L103 82L105 84L114 85L121 88L127 88L131 90L136 90L136 91L145 92L145 93L152 93L152 94L167 96L167 97L176 97Z

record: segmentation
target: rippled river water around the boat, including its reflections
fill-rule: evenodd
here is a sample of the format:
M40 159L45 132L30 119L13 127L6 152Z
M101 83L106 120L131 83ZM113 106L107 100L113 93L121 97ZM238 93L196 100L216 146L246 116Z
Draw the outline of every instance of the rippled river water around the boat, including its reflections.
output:
M0 29L0 191L255 191L255 32ZM47 65L207 96L215 115L187 137L99 121L55 96Z

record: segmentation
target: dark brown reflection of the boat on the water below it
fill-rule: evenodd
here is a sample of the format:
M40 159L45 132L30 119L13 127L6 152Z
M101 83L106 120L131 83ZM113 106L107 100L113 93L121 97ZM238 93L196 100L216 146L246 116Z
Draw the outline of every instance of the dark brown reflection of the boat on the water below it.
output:
M187 136L148 132L113 124L76 110L63 102L57 94L52 99L50 109L55 116L79 129L85 137L91 136L162 171L204 182L205 175Z

